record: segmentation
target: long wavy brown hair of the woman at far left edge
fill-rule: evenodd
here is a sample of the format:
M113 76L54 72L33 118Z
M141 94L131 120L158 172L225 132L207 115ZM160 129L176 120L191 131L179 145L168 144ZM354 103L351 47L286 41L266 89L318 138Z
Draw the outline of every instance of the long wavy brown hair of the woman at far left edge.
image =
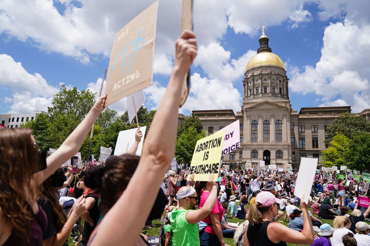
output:
M29 242L29 225L35 219L31 205L37 200L34 174L38 166L38 147L29 128L0 131L0 207L13 226L13 234Z

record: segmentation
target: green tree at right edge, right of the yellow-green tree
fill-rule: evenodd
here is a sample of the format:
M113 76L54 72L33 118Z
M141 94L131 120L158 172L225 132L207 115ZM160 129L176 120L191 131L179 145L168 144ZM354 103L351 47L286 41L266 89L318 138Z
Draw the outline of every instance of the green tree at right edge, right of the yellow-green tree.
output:
M370 133L362 132L354 136L344 156L350 160L350 169L370 170Z

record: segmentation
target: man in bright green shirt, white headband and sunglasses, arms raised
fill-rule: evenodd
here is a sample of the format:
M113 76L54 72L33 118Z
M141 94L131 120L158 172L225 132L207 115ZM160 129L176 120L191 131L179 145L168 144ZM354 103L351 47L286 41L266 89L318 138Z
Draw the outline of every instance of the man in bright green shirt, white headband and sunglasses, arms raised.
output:
M179 205L172 210L169 218L175 236L176 246L200 245L197 223L205 219L212 212L217 199L217 186L216 182L213 181L213 176L211 174L208 181L212 185L212 191L200 209L194 210L198 203L198 195L192 186L194 185L194 174L189 179L189 186L181 187L178 190L176 199Z

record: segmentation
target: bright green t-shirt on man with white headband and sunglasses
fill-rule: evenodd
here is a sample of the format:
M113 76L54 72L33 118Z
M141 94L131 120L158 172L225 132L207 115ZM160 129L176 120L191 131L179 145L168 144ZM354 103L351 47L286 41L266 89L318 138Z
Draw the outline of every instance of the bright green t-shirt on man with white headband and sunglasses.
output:
M178 207L172 210L169 218L172 225L173 235L175 236L176 246L199 246L198 224L189 224L185 219L188 210L180 209Z

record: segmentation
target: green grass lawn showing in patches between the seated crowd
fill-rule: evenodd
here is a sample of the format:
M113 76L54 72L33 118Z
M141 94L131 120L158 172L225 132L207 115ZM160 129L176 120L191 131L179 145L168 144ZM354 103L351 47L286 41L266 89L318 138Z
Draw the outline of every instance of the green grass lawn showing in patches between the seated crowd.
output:
M237 203L238 204L238 203ZM249 209L249 204L247 204L246 205L247 206L247 209ZM312 208L309 208L309 210L310 210L310 212L312 213ZM352 211L350 211L350 213L351 213ZM284 215L285 215L285 212L284 212ZM315 217L318 217L316 214L313 214L312 213L312 215L313 216L315 216ZM243 222L243 220L241 220L241 219L238 219L238 218L230 218L230 216L229 215L226 215L226 217L227 217L227 219L228 219L228 222L233 222L233 223L238 223L238 222L240 222L240 223L242 223ZM280 220L282 220L284 218L284 216L281 218L281 219L279 219L278 221L280 221ZM286 219L286 221L288 221L288 219ZM329 225L331 225L331 226L333 226L333 220L332 219L321 219L321 221L322 221L322 223L323 224L325 224L325 223L327 223L327 224L329 224ZM239 224L240 224L239 223ZM282 223L282 224L284 224L284 225L286 225L286 226L288 226L288 222L280 222L280 223ZM143 234L145 234L145 235L148 235L148 236L159 236L159 231L160 231L160 229L161 229L161 225L163 224L159 219L156 219L156 220L153 220L153 224L154 225L157 225L156 227L154 227L154 228L152 228L152 229L145 229L144 228L144 230L142 231L142 233ZM370 224L369 222L367 222L367 224ZM233 245L233 246L235 246L236 244L234 243L234 240L232 239L232 238L225 238L225 243L226 244L228 244L228 245ZM294 245L296 245L296 244L289 244L288 243L288 245L289 246L294 246Z

